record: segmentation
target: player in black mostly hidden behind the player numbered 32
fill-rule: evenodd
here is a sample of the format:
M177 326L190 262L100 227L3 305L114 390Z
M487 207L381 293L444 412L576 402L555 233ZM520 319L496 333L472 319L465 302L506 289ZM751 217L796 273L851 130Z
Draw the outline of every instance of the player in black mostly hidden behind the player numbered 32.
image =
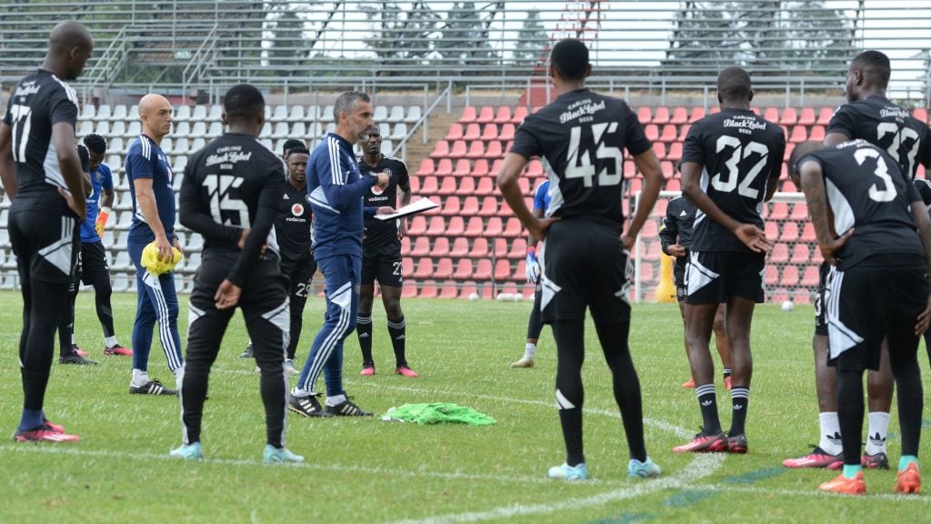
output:
M685 266L688 261L689 248L692 246L692 227L695 223L695 213L698 209L688 197L682 195L669 200L666 207L666 216L663 218L663 228L659 230L659 241L663 253L675 257L676 262L672 268L673 281L676 284L676 301L679 302L679 313L682 325L685 326ZM718 305L714 313L714 345L721 356L724 388L731 389L731 343L727 338L727 329L724 323L724 314L727 308ZM685 344L685 356L688 358L688 344ZM688 379L682 384L685 389L695 388L695 379Z

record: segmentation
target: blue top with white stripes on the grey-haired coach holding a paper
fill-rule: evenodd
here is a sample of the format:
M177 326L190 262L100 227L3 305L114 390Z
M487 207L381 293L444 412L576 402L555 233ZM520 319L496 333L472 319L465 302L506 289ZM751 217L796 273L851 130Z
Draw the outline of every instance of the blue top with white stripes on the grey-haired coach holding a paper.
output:
M314 257L362 256L362 197L375 180L362 177L352 144L330 133L310 153L307 161L307 194L314 212ZM363 210L366 210L365 212Z

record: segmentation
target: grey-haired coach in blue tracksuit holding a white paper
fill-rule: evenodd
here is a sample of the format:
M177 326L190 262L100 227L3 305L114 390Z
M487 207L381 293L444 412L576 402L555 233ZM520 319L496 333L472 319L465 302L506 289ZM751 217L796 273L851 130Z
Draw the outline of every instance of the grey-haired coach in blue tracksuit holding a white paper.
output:
M362 276L363 215L389 214L389 207L363 208L371 186L386 186L388 175L362 177L353 153L360 135L374 124L369 95L341 94L333 104L336 130L314 148L307 162L307 194L314 211L314 258L326 282L327 312L310 347L288 407L305 417L369 416L343 390L343 341L356 328ZM317 378L326 369L326 407L317 401Z

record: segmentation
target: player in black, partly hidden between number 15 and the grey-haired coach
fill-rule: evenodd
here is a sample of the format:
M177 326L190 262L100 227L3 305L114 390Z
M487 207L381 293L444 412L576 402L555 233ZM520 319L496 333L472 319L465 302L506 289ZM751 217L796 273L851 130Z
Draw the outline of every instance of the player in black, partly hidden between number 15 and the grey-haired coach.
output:
M275 217L275 235L281 252L281 272L290 278L290 343L285 369L297 374L294 355L304 327L304 306L317 272L311 248L311 213L307 197L307 159L310 151L294 145L285 153L288 181Z

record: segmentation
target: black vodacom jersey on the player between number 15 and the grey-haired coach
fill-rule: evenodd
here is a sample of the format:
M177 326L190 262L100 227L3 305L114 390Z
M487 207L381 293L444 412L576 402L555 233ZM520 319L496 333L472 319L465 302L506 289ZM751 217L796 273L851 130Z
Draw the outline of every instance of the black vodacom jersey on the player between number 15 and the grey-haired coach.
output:
M307 186L294 188L285 178L281 207L275 217L275 238L281 252L281 262L309 262L311 248L310 196Z

